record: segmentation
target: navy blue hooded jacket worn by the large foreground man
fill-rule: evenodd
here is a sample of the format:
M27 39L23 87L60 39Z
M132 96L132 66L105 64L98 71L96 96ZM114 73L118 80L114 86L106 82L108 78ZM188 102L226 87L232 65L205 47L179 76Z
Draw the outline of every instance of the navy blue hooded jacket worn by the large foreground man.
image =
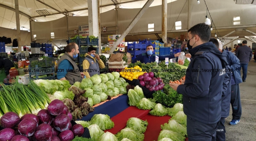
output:
M221 119L223 69L228 65L226 55L212 42L198 45L189 53L193 60L187 68L186 81L177 88L183 95L184 113L202 123L215 124Z

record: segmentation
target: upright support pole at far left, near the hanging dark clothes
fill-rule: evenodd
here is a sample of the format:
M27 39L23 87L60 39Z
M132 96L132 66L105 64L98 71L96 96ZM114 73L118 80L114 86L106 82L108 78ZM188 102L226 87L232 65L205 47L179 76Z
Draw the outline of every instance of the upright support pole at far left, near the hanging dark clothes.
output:
M16 15L16 30L17 30L17 40L18 40L18 51L21 49L21 38L20 38L20 15L19 15L19 2L15 0L15 15ZM31 32L31 31L30 31Z

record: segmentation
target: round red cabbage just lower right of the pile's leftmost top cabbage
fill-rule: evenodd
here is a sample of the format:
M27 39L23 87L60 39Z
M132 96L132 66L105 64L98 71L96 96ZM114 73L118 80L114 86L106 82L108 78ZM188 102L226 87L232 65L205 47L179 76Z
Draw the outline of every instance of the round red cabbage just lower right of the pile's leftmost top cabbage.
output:
M35 133L35 129L37 128L37 122L35 119L32 118L24 118L22 121L20 121L18 125L18 130L20 134L30 137Z

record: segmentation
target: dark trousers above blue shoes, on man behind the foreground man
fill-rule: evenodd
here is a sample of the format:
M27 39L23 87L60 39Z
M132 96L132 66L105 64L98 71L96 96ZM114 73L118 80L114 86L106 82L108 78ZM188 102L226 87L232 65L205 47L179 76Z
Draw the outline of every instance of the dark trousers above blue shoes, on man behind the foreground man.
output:
M231 100L232 106L232 120L238 120L242 115L242 105L240 99L240 89L239 84L231 85Z

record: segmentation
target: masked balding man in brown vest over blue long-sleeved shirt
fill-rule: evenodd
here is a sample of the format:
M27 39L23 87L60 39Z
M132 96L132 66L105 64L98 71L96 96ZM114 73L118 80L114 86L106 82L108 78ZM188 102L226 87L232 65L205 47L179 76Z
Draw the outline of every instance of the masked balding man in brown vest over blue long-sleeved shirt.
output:
M62 70L57 71L58 80L68 80L70 85L82 81L84 74L83 72L80 72L75 63L78 53L79 50L76 43L69 43L67 45L65 54L63 54L58 61L58 70Z

